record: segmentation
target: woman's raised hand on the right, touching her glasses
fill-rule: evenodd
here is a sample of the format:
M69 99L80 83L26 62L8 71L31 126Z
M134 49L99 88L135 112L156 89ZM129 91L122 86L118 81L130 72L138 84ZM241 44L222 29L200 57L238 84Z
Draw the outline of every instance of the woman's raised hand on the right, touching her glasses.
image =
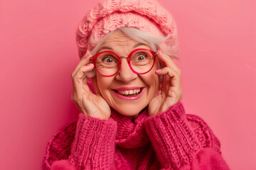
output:
M181 69L178 69L174 61L161 50L157 55L163 68L157 69L156 74L163 76L159 82L159 93L149 103L149 115L157 115L167 111L171 106L181 101L183 92L181 89Z

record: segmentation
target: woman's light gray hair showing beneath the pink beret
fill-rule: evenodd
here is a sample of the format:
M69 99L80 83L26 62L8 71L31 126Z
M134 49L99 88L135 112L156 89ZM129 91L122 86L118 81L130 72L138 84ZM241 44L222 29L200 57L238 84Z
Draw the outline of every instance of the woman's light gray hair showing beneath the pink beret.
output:
M111 35L116 33L117 31L121 31L124 33L124 35L127 35L127 37L131 38L132 40L135 40L137 42L144 43L145 45L148 45L151 47L151 50L157 51L162 50L164 54L169 55L171 58L179 60L176 55L178 55L177 51L174 51L172 48L173 40L169 39L169 36L166 37L156 37L154 35L151 35L149 33L144 32L143 30L139 30L137 28L117 28L116 30L113 30L112 32L105 35L104 38L101 38L100 40L95 40L92 37L89 39L90 45L92 45L93 50L91 51L91 55L96 55L97 51L99 50L100 45L102 45L107 38L110 38ZM87 77L94 77L95 71L93 69L92 72L88 72Z

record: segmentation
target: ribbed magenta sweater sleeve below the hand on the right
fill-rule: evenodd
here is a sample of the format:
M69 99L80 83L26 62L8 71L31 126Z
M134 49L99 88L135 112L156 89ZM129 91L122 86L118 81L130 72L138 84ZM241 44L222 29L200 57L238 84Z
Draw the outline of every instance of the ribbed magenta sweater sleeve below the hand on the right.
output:
M229 169L214 142L205 145L198 139L202 135L193 132L181 102L149 117L144 125L162 169ZM208 127L203 131L211 132Z

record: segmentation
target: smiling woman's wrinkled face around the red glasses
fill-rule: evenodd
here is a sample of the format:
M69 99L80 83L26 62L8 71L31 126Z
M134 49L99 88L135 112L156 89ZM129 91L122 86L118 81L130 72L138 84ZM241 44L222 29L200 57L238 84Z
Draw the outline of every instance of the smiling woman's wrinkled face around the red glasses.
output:
M151 50L148 45L138 43L118 31L100 45L98 52L111 50L119 56L128 56L132 50L137 48ZM136 118L159 89L159 77L155 73L156 69L159 69L158 60L150 72L135 74L129 68L127 58L122 58L122 64L117 74L112 77L103 77L96 72L96 78L92 80L94 85L97 84L95 90L100 92L114 110L122 115ZM134 94L125 95L130 91ZM138 92L139 94L137 94Z

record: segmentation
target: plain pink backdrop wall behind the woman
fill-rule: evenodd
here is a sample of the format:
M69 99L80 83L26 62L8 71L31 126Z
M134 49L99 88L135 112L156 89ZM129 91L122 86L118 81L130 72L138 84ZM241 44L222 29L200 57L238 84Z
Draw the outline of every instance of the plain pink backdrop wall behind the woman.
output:
M231 169L256 169L256 3L160 3L178 26L186 113L206 120ZM0 169L41 169L50 137L77 118L75 30L95 4L0 1Z

